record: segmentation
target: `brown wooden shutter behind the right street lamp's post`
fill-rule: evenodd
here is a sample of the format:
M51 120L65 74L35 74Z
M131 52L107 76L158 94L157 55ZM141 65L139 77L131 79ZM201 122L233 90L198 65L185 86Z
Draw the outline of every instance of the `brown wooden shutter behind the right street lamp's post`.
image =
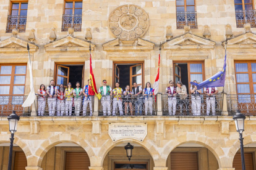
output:
M252 153L244 153L246 170L254 170L254 160ZM241 153L236 153L233 160L233 168L236 170L242 170Z

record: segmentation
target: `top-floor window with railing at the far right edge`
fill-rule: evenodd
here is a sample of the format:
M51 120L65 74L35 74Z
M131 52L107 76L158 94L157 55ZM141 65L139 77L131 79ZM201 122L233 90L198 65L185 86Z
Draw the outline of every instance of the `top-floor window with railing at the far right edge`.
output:
M252 0L234 0L236 10L236 27L243 28L245 23L256 27L255 11Z

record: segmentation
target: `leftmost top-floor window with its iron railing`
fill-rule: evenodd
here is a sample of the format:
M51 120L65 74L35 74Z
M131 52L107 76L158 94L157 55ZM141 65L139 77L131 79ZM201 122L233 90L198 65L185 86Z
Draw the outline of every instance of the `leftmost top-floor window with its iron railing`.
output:
M19 29L25 32L27 23L28 2L12 2L6 32L11 33L12 29Z

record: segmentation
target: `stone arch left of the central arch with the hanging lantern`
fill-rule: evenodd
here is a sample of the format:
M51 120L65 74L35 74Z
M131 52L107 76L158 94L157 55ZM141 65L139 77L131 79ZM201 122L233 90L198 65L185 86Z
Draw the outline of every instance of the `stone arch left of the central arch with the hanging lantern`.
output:
M75 136L74 134L58 134L56 136L49 137L40 145L40 147L36 150L33 158L29 161L28 166L41 166L43 157L48 152L48 150L55 145L64 142L74 143L82 147L85 152L87 152L90 158L90 163L92 163L92 157L95 156L95 153L93 152L92 147L90 146L90 144L88 144L86 140Z

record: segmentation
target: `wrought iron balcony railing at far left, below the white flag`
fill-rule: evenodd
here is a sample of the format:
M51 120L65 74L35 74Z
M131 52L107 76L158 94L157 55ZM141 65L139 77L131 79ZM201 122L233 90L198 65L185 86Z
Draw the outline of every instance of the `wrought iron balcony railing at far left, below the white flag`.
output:
M30 116L30 107L23 108L22 104L27 96L22 95L1 95L0 96L0 116L9 116L12 111L16 111L19 116Z

